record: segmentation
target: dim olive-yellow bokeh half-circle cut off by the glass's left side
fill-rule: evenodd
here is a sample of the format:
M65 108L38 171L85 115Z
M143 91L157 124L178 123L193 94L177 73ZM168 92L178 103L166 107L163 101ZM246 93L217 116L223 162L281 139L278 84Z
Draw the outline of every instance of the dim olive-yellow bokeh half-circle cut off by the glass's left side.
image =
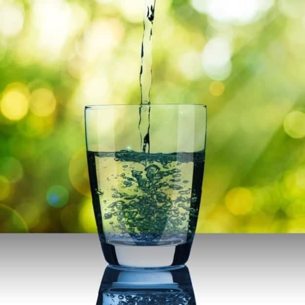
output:
M86 148L79 149L72 157L69 164L69 178L74 188L82 195L90 197L90 185L87 170Z

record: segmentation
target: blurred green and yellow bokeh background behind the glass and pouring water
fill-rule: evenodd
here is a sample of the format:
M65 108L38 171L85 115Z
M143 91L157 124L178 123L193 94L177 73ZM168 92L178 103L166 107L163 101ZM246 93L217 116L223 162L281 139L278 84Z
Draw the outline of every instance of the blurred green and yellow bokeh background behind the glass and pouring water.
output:
M96 231L83 108L140 103L142 7L0 0L0 232ZM157 0L152 103L208 107L200 233L305 232L304 13Z

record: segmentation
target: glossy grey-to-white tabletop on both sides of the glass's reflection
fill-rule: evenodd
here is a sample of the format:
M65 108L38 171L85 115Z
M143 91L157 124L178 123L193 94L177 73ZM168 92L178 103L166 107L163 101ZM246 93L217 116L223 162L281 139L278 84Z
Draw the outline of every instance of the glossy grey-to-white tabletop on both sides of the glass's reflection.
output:
M197 305L304 305L304 235L196 235ZM95 305L106 268L97 235L0 234L0 304Z

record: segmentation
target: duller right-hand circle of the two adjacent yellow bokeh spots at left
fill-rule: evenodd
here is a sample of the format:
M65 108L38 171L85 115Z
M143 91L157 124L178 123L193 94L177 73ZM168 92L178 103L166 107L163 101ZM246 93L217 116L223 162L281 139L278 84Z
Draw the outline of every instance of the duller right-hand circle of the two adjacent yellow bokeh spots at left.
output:
M47 88L39 88L33 91L30 99L31 111L39 117L51 115L56 108L56 98L53 92Z

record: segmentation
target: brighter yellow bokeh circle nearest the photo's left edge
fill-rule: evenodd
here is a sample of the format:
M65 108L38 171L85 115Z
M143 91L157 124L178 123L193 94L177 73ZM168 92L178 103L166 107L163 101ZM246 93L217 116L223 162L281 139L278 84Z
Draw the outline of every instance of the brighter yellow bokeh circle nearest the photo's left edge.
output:
M8 85L3 92L0 108L3 116L11 121L23 119L29 109L27 87L21 83Z

